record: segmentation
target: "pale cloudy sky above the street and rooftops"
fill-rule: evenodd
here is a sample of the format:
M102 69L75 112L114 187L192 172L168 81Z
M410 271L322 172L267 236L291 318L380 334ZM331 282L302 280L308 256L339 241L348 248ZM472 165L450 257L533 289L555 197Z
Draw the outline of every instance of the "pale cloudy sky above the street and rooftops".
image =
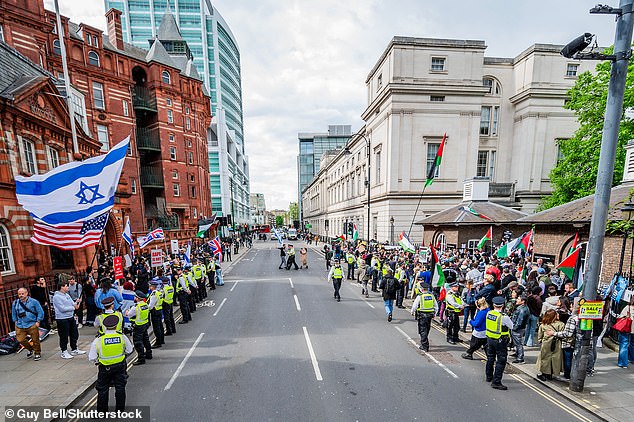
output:
M105 29L102 0L59 1L73 21ZM212 0L241 49L251 192L264 193L268 209L296 200L297 133L363 125L365 78L392 37L484 40L493 57L513 57L534 43L565 44L583 32L611 45L614 18L588 14L597 3Z

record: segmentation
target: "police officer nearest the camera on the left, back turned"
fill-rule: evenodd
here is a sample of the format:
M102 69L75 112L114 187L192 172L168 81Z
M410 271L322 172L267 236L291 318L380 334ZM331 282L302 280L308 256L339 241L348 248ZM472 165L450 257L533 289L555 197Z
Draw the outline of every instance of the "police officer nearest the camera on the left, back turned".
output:
M110 384L114 384L115 388L115 409L125 409L125 386L128 380L125 358L132 353L133 348L128 337L117 331L119 321L112 314L104 318L104 333L92 341L88 352L88 360L99 366L95 384L99 412L108 411Z

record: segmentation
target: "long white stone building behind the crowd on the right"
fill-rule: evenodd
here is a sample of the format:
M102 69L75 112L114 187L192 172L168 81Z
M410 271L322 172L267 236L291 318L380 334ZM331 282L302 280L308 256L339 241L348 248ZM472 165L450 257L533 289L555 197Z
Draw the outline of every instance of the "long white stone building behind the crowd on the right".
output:
M395 241L408 231L443 134L442 164L427 188L416 220L461 201L464 181L490 179L489 197L533 212L551 192L548 179L557 140L578 124L563 108L567 90L593 62L535 44L514 58L486 57L484 41L392 39L366 80L362 133L370 142L370 237ZM366 141L325 158L303 191L304 221L336 236L357 224L367 239ZM393 219L393 223L391 220ZM329 231L326 233L326 221ZM420 226L411 240L420 242Z

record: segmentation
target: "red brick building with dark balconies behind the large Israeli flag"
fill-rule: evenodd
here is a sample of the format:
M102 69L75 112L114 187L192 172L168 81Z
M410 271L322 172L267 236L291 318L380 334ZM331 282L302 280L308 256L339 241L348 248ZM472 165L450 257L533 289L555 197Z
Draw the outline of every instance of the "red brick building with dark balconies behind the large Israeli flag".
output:
M166 14L159 37L151 40L149 50L123 42L120 12L112 9L106 19L107 35L62 17L73 111L82 139L92 148L84 147L82 154L106 152L126 136L132 137L103 245L118 248L127 217L135 237L156 227L163 227L168 239L193 237L198 219L211 214L208 93L171 14ZM1 2L0 37L50 72L51 84L61 86L64 94L56 18L44 8L43 0ZM44 146L37 145L37 154L41 154L38 165L45 163ZM66 159L60 160L63 162ZM0 174L9 174L7 165L7 161L0 161ZM5 208L17 206L15 186L9 183L0 189L4 189L0 221L6 221L9 215ZM19 210L17 207L13 212ZM20 236L28 239L32 221L25 216L21 224ZM11 239L18 239L16 230L9 230ZM85 266L83 260L76 259L76 253L51 253L60 256L51 259L46 251L37 251L31 254L40 260L40 264L31 265L37 268L25 267L19 275L5 275L5 280ZM53 261L59 261L61 267Z

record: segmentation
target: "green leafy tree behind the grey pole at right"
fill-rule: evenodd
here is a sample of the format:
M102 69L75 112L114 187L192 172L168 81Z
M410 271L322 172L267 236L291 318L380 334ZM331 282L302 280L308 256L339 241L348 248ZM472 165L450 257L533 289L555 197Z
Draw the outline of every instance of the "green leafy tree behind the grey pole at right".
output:
M606 54L611 54L611 49ZM560 159L550 172L552 195L544 197L540 209L548 209L565 204L594 193L601 151L603 118L608 96L610 80L610 62L601 62L596 67L596 74L584 72L579 75L577 83L568 91L565 108L573 110L579 122L579 128L570 139L558 141ZM634 65L629 64L623 109L634 108ZM634 134L632 116L624 113L619 130L619 143L612 185L620 183L625 165L625 149L627 141ZM546 157L545 157L546 158Z

